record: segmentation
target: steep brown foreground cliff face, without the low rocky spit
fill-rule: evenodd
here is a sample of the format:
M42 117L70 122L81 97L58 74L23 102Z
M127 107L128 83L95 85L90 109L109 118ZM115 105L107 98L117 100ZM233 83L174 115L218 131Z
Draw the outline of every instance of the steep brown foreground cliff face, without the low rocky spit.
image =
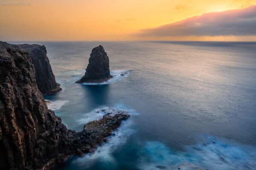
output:
M0 44L0 169L36 169L69 130L47 109L30 53Z

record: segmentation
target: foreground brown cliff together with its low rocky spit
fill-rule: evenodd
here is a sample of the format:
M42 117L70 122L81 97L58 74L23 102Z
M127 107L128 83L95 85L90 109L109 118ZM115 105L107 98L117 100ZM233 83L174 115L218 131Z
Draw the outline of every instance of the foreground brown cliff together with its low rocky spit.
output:
M76 133L48 110L30 51L0 43L0 169L48 169L72 154L91 152L126 113L107 115Z

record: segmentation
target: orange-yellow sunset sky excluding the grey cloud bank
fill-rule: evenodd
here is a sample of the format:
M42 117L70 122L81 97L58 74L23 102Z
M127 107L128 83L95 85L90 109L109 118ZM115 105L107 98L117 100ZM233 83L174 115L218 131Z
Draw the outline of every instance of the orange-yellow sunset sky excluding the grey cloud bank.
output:
M54 2L53 2L54 1ZM2 0L15 2L14 0ZM255 41L256 36L138 37L136 33L214 11L245 8L256 0L25 0L0 4L0 40Z

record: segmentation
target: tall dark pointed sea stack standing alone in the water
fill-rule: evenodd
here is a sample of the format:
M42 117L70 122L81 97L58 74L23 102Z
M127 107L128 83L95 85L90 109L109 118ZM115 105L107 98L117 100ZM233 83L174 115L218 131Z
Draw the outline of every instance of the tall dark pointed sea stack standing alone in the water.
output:
M89 64L84 76L76 82L104 82L110 78L112 76L109 71L108 55L102 45L99 45L93 48L90 54Z

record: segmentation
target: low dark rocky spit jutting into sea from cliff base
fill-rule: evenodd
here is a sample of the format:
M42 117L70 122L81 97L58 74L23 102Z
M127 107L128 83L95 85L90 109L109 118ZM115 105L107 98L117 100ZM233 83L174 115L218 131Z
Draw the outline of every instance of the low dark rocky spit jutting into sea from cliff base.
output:
M102 119L88 122L84 125L84 130L80 132L70 130L61 143L61 152L58 153L57 157L49 160L41 169L48 170L56 163L61 163L72 155L83 156L84 153L94 152L99 144L107 142L106 137L111 136L122 121L130 117L124 111L119 110L118 112L115 115L107 113Z

